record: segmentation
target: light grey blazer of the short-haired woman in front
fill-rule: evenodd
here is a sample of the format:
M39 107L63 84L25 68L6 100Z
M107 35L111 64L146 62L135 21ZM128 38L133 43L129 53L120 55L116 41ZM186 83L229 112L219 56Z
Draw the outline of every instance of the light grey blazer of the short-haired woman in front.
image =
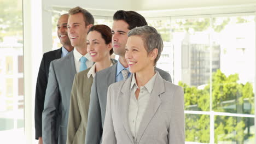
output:
M159 73L139 125L137 138L132 137L128 122L131 77L113 83L108 88L102 144L185 143L183 89L165 81Z

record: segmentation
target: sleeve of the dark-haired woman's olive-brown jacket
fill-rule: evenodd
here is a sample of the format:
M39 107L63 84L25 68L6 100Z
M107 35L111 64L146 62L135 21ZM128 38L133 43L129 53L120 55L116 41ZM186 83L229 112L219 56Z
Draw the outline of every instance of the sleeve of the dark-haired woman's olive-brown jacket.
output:
M71 144L74 141L75 133L77 132L81 123L81 113L78 106L78 91L77 91L78 75L75 75L71 90L71 101L68 115L68 127L67 127L67 144Z

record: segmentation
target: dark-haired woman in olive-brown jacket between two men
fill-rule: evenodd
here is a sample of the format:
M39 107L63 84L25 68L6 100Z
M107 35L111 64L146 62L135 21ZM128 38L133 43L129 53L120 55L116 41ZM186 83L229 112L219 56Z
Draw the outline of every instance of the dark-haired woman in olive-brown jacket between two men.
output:
M111 38L111 29L106 25L95 25L88 31L87 51L95 64L75 75L71 91L67 144L84 143L93 77L97 71L117 62L110 58L114 52Z

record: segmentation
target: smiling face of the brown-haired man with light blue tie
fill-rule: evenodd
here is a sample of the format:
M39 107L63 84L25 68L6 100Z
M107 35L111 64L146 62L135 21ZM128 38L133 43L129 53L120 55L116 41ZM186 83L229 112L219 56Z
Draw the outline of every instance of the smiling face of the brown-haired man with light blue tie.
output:
M75 47L86 45L86 37L89 26L85 26L82 13L70 15L68 18L68 37L71 45Z

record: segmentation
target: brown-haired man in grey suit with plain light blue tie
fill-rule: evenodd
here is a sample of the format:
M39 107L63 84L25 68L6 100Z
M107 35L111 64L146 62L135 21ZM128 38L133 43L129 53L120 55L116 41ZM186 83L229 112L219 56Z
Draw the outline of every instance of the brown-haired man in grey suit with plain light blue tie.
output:
M86 37L89 28L94 25L94 17L80 7L70 9L68 13L68 37L74 50L50 63L42 116L44 144L66 143L74 75L93 64L87 53Z

